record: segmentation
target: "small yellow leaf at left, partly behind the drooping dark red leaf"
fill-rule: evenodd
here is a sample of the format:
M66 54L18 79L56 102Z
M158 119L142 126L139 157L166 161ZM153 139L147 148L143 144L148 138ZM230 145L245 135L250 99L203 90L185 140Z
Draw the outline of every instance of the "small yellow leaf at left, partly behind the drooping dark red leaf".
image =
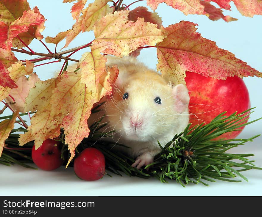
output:
M33 68L34 63L26 60L26 66L24 66L21 61L18 61L8 67L7 70L9 71L10 78L17 81L21 76L30 75L33 72ZM0 86L0 100L7 98L10 91L11 88Z

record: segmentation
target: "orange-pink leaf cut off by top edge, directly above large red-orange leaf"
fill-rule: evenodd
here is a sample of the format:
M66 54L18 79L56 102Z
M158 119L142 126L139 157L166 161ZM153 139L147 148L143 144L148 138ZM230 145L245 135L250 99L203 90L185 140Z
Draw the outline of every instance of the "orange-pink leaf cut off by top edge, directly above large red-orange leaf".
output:
M147 0L147 5L153 10L157 9L158 4L165 2L167 5L182 11L185 15L188 14L205 14L204 6L199 0Z

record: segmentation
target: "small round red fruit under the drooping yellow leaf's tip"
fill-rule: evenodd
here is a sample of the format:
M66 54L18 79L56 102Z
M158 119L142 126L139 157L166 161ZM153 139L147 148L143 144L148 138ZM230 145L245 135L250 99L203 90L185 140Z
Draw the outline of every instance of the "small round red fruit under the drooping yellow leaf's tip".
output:
M74 172L83 180L94 181L105 174L105 156L96 148L86 148L74 160Z

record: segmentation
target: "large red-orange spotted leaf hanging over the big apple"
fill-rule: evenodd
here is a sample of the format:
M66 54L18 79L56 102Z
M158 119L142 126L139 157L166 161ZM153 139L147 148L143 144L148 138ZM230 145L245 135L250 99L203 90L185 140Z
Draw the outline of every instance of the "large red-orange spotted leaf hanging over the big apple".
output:
M227 76L258 76L262 73L251 68L234 54L216 46L196 32L197 24L181 21L162 28L166 38L157 44L157 69L174 84L184 83L185 71L200 73L217 79Z

